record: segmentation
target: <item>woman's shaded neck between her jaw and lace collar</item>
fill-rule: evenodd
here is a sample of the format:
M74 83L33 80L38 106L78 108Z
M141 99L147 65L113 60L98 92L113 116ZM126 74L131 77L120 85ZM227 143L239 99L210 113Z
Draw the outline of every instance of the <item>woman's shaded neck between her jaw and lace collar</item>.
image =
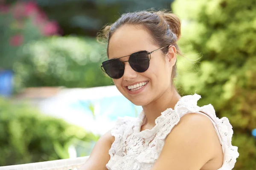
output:
M174 109L176 103L180 99L180 95L177 93L174 86L170 87L165 93L163 93L157 100L143 106L145 113L145 124L148 126L155 126L155 119L161 115L167 108Z

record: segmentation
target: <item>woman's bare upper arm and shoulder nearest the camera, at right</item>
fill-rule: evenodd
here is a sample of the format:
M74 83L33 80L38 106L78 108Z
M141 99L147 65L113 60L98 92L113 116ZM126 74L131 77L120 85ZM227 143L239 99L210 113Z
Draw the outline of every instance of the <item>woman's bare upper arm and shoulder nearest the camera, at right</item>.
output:
M151 170L200 170L214 157L215 130L207 116L184 115L166 137L163 150Z

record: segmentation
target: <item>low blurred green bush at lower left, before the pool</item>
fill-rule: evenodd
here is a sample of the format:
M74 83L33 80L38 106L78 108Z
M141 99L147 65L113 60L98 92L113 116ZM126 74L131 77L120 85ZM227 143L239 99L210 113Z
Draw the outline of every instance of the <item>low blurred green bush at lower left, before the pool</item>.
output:
M70 144L98 139L81 127L0 98L0 166L65 159Z

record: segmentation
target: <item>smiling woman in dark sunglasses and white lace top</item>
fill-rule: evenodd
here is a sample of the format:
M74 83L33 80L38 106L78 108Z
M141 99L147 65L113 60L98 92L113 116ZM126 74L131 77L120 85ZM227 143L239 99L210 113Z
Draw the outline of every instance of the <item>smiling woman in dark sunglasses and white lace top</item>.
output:
M120 118L96 143L81 170L231 170L239 156L232 126L212 105L197 106L173 85L180 20L163 11L123 14L104 35L102 69L143 111Z

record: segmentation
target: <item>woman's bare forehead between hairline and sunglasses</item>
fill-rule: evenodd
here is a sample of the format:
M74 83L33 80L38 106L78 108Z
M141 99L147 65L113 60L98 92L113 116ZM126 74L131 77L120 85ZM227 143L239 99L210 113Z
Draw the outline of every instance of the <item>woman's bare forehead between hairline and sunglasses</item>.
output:
M122 26L114 32L108 44L108 57L118 58L137 51L154 49L151 35L143 28Z

